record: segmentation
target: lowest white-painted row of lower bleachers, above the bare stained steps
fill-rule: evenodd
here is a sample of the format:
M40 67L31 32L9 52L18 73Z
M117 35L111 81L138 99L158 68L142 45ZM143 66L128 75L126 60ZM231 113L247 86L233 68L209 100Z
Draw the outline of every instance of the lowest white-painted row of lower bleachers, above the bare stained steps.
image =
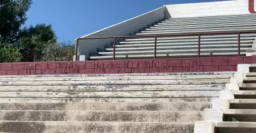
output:
M3 98L176 98L219 97L220 91L0 92Z

